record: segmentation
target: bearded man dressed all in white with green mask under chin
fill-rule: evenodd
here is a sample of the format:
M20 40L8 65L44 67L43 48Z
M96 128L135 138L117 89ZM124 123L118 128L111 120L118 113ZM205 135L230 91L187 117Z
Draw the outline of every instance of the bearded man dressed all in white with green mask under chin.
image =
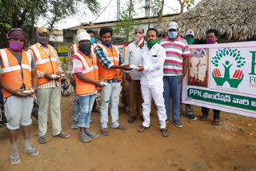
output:
M142 50L141 65L138 71L142 71L142 113L144 121L138 129L139 133L150 128L150 110L151 98L153 97L155 105L158 108L158 118L160 121L160 134L168 137L166 129L166 107L163 98L163 64L166 59L166 50L158 44L158 31L150 28L146 33L146 46Z

